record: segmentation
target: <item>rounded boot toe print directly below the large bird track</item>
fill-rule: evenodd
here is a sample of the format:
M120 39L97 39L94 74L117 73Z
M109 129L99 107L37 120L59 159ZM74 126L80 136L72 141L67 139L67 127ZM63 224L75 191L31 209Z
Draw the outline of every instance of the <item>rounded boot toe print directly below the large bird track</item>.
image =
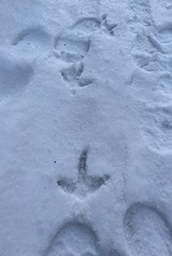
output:
M98 239L83 223L65 224L54 236L46 256L99 256Z

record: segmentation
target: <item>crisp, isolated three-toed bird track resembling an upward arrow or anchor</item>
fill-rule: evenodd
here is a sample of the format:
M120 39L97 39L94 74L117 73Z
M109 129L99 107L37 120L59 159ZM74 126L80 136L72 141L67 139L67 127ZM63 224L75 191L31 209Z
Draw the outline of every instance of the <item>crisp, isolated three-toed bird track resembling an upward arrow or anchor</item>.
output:
M79 158L78 164L78 178L76 182L68 179L61 179L57 183L67 193L73 193L79 196L86 196L88 193L93 193L99 189L103 184L110 180L109 175L102 177L87 175L87 149L85 149Z

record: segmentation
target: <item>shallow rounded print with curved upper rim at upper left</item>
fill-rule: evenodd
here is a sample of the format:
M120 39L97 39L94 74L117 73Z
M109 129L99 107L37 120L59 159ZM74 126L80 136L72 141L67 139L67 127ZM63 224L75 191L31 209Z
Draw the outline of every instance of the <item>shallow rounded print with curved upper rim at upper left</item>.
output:
M41 28L25 29L16 36L11 46L20 51L20 54L33 57L50 47L50 37Z

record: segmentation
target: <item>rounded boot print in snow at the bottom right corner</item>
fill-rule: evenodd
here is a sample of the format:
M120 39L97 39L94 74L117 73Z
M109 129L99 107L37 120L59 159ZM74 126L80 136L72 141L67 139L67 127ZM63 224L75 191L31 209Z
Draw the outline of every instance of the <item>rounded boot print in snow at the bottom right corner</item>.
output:
M170 224L152 207L135 204L126 211L124 220L126 244L132 256L170 256Z

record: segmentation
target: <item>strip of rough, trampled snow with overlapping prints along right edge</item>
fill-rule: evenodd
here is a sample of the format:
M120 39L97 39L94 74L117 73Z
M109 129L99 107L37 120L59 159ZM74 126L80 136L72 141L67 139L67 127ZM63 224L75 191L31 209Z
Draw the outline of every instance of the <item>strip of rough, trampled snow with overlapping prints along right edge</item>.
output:
M133 61L140 69L131 82L132 95L147 103L141 134L150 148L168 153L172 150L172 22L165 19L157 24L155 14L165 9L168 17L171 7L167 2L165 6L161 1L129 0L128 9ZM150 75L153 72L158 74L156 80Z

